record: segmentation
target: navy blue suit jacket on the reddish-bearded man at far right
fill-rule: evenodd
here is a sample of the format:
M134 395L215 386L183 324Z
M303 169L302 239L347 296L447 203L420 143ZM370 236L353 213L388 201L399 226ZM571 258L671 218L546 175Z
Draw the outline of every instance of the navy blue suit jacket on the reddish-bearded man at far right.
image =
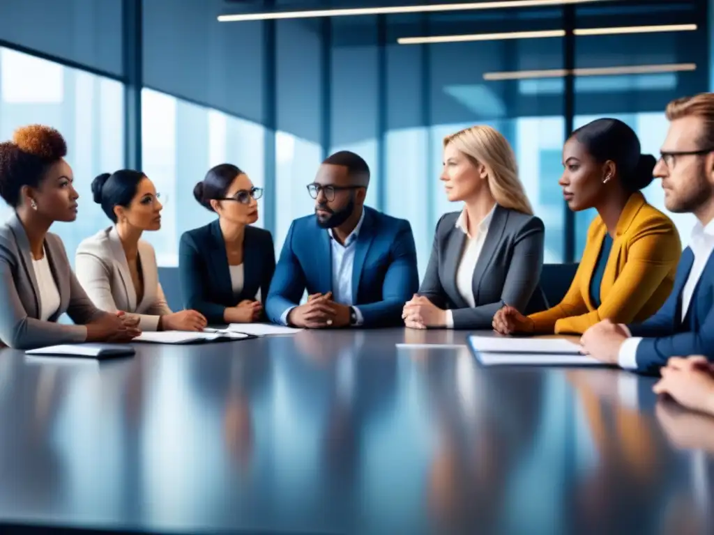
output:
M662 308L645 322L628 325L643 337L637 348L637 367L656 373L669 357L705 355L714 360L714 254L710 255L682 320L682 292L694 263L690 248L682 253L674 287Z

